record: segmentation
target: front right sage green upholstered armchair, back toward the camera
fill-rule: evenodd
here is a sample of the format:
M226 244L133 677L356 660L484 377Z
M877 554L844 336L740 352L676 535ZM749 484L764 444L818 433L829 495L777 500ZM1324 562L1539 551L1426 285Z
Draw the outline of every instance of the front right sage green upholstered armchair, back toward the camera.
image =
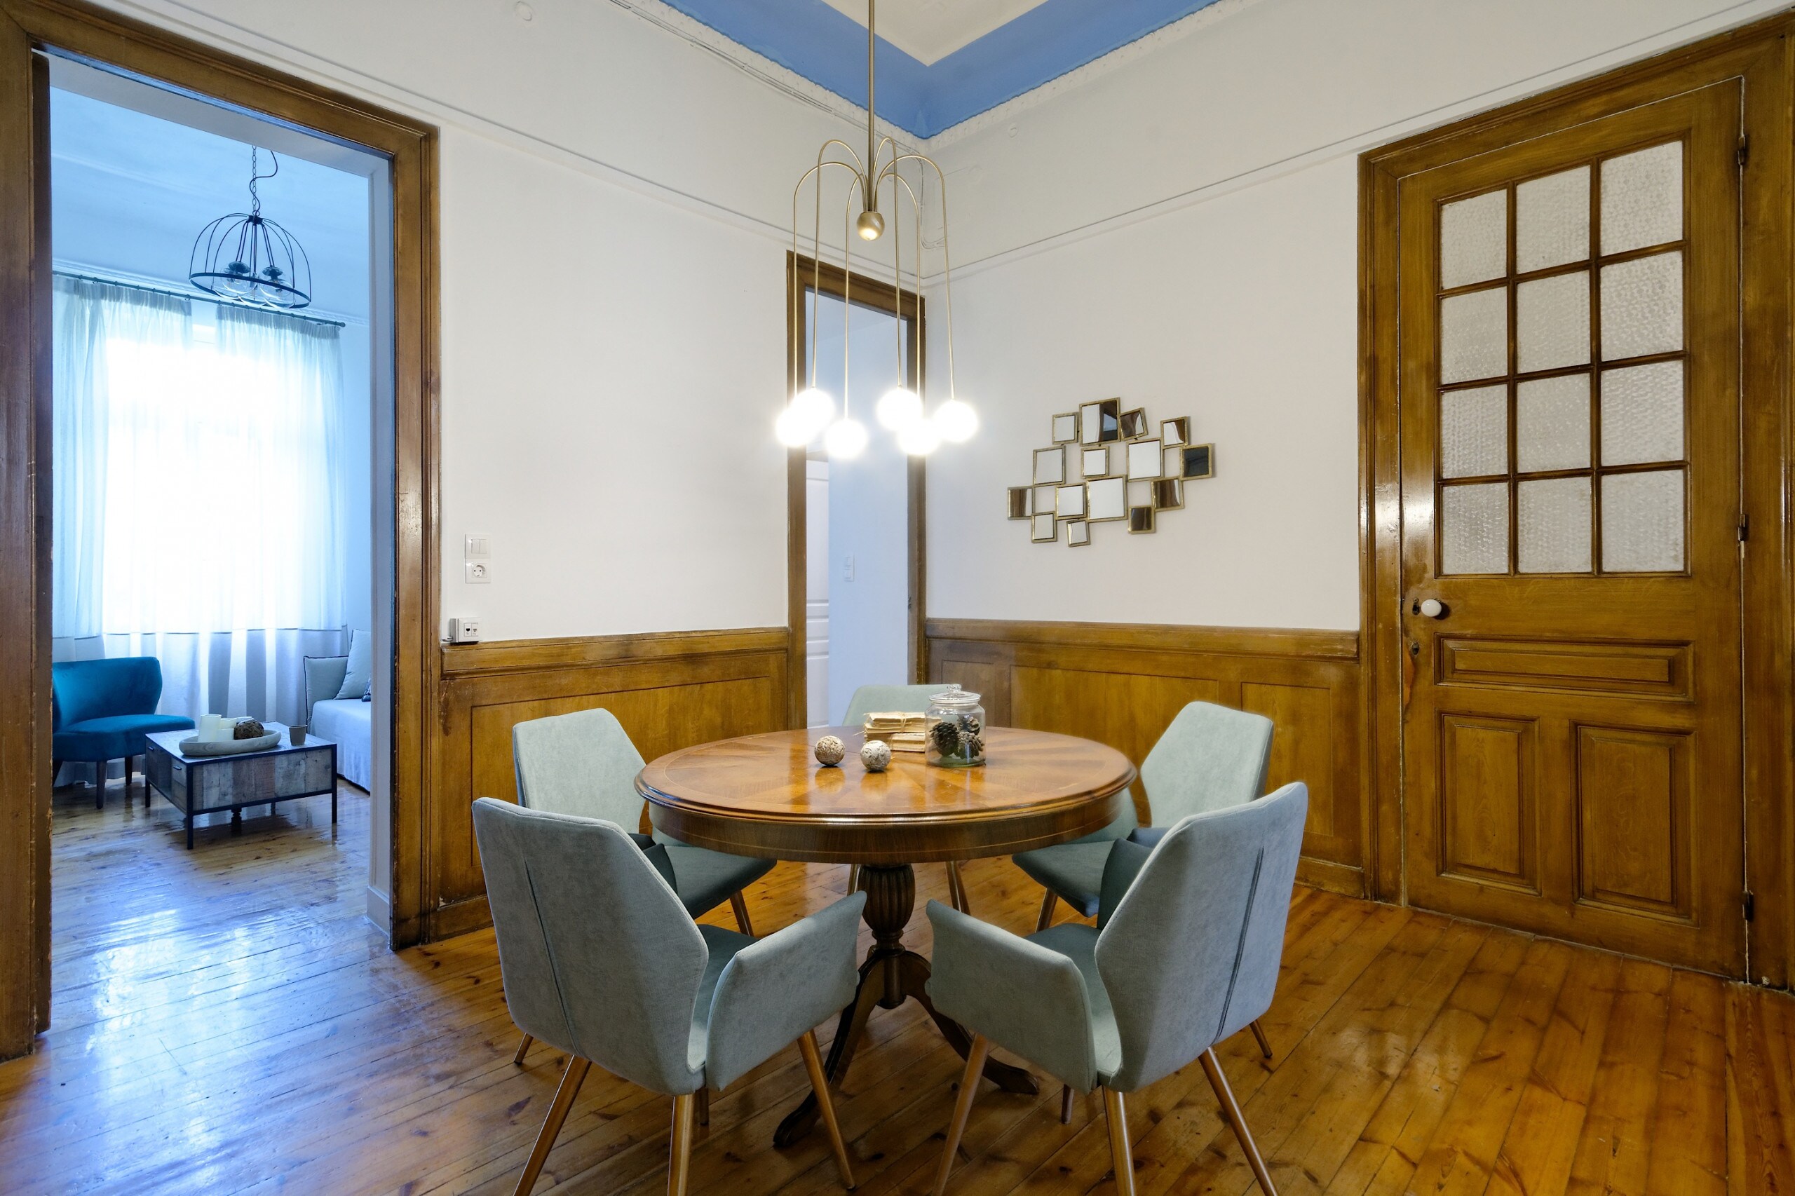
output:
M973 1034L935 1196L946 1192L993 1045L1079 1092L1104 1090L1116 1196L1134 1194L1125 1094L1201 1061L1253 1176L1276 1196L1213 1047L1271 1007L1307 812L1309 790L1296 781L1186 815L1154 848L1113 842L1100 927L1072 921L1023 939L928 903L928 995Z

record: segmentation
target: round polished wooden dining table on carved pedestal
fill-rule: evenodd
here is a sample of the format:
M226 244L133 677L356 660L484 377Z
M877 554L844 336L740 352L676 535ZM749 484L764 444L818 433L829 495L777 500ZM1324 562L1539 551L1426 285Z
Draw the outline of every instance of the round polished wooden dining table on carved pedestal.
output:
M813 749L835 734L847 749L838 767ZM856 727L770 731L700 743L653 760L635 778L655 828L682 842L734 855L811 864L858 864L867 893L863 918L872 950L860 968L854 1002L829 1045L831 1083L847 1074L874 1006L917 1000L960 1056L971 1038L928 1000L928 961L903 945L915 909L912 864L1012 855L1088 835L1115 821L1129 801L1127 756L1070 734L987 727L985 763L928 765L921 752L892 752L885 772L860 763ZM1009 1092L1036 1092L1034 1077L996 1060L985 1077ZM817 1122L808 1095L774 1133L790 1146Z

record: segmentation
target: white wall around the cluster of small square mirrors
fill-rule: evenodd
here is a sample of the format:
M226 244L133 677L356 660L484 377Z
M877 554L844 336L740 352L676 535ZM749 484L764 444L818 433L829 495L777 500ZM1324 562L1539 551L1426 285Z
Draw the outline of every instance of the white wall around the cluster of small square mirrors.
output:
M985 429L930 460L930 616L1357 627L1357 154L1775 7L1258 0L937 138ZM1029 544L1003 487L1108 395L1194 417L1215 479L1154 535Z

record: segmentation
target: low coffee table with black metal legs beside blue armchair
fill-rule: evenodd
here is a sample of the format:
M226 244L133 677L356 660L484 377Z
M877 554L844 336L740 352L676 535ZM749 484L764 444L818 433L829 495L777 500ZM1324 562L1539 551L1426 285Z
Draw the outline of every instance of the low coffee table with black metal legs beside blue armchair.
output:
M244 806L275 808L276 801L321 797L330 794L330 822L336 822L336 742L307 734L293 745L287 726L262 724L280 731L280 742L260 752L237 756L187 756L181 740L192 731L156 731L144 751L144 805L149 788L187 815L187 849L194 849L194 817L230 810L232 833L242 831Z

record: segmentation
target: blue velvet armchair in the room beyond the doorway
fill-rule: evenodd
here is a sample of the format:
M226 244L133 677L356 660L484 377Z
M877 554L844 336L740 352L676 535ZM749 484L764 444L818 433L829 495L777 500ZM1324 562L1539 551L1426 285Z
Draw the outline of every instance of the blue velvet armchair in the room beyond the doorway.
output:
M151 731L187 731L192 718L158 715L162 663L153 655L117 655L106 661L61 661L50 666L52 776L65 760L93 765L93 808L106 805L106 765L124 760L126 797L131 796L131 756L142 756ZM149 783L144 785L149 805Z

